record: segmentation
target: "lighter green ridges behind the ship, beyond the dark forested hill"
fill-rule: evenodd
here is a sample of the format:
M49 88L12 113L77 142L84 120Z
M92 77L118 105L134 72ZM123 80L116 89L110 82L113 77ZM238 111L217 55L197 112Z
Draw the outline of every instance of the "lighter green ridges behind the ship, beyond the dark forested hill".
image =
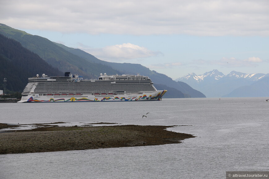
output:
M31 35L24 31L16 30L14 28L6 26L5 24L0 24L0 34L19 41L23 47L36 53L48 64L58 68L60 71L70 71L71 73L82 75L84 76L84 78L97 78L100 73L140 73L141 75L150 77L155 85L166 85L166 89L175 89L176 91L171 90L170 94L169 92L167 92L167 94L174 96L173 98L175 98L176 96L182 96L179 91L184 94L183 96L185 98L205 97L204 94L192 89L186 83L173 81L172 78L164 74L157 73L156 71L152 71L140 64L111 63L99 60L91 54L88 54L80 49L69 48L62 44L51 42L46 38L37 35ZM41 70L39 73L43 73L43 71Z

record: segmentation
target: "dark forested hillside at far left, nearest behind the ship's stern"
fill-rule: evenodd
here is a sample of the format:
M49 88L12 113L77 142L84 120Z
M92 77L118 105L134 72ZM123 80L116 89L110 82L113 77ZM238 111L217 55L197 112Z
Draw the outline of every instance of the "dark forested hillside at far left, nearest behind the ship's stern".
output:
M6 78L6 89L13 92L22 92L28 83L28 78L40 72L53 76L63 74L37 54L22 47L18 41L1 34L0 64L0 89L4 89L3 79Z

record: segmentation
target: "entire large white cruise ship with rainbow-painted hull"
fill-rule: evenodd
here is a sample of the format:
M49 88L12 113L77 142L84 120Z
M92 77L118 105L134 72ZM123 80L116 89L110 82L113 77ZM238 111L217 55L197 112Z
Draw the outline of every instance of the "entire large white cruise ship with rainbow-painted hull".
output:
M100 74L85 79L65 72L64 77L45 74L28 78L19 102L160 101L167 90L156 90L149 77L142 75Z

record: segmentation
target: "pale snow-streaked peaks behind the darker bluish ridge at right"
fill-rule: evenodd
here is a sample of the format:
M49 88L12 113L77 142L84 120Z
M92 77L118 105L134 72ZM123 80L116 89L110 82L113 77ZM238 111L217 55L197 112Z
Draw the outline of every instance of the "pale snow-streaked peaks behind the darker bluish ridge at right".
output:
M242 86L249 86L263 78L266 80L266 77L269 77L269 74L246 74L236 71L232 71L228 75L224 75L223 73L214 69L202 75L189 73L183 77L177 78L175 81L182 81L187 83L192 88L201 91L206 95L206 97L222 97L224 95L225 97L229 97L229 93L231 93L233 90ZM234 95L235 94L233 94L233 96Z

